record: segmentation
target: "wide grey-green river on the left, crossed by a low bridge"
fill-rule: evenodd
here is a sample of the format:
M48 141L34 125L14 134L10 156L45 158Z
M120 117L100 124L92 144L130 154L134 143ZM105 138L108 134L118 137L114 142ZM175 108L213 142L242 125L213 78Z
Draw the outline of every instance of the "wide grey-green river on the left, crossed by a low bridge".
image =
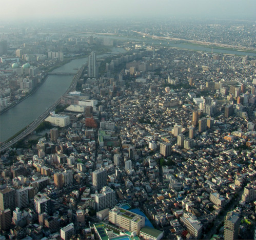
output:
M112 48L111 54L102 54L97 58L125 52L122 48ZM75 69L82 67L87 59L87 57L74 59L53 72L66 71L75 74L77 72ZM65 93L72 79L73 75L49 75L36 92L0 115L0 142L6 141L38 118L46 108Z

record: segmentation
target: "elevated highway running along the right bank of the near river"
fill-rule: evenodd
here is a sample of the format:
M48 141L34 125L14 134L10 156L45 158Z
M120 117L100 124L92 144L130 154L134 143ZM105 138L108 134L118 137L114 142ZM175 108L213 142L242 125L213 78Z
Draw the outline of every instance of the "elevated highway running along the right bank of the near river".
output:
M84 69L85 69L86 65L83 65L78 72L74 75L73 80L69 86L69 88L67 89L67 91L63 94L63 95L67 95L69 92L72 92L75 90L76 87L76 83L77 81L80 79ZM43 122L46 117L50 114L51 111L54 110L54 108L60 103L61 98L59 98L58 100L56 100L50 107L47 108L47 110L40 115L40 117L38 117L37 119L35 119L31 124L29 124L26 129L19 134L18 136L16 136L15 138L13 138L12 140L10 140L9 142L5 142L1 147L0 147L0 152L8 149L9 147L11 147L13 144L17 143L19 140L22 140L23 138L25 138L26 136L28 136L29 134L31 134L36 127Z

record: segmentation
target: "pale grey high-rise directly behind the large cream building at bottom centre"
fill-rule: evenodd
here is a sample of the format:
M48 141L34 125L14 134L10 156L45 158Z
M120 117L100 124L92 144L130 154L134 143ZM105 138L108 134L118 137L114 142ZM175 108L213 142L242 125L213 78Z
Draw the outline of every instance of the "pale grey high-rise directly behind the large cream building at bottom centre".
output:
M108 186L103 187L101 193L95 194L95 203L97 211L112 209L115 206L115 191Z

